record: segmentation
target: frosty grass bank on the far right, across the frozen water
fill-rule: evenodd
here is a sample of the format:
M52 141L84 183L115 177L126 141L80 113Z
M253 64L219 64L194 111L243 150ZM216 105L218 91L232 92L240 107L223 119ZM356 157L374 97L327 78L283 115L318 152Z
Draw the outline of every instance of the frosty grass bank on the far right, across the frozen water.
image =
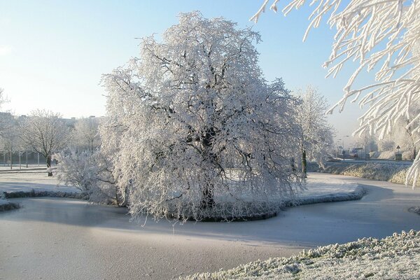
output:
M397 164L328 162L322 172L403 184L408 169L407 165Z

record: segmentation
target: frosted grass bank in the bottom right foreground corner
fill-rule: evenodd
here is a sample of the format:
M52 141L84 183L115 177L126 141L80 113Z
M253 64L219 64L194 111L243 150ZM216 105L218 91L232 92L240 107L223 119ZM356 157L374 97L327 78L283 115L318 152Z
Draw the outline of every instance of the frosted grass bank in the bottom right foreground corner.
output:
M420 232L358 239L186 279L419 279Z

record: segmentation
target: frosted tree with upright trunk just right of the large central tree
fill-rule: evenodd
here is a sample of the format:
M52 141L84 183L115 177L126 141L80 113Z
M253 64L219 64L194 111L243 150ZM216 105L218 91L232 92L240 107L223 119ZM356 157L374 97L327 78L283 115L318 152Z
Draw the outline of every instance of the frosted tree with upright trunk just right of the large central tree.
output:
M300 90L300 102L296 106L296 123L300 128L299 146L302 172L307 172L307 160L316 160L322 165L333 148L332 127L328 125L325 112L328 102L313 86Z

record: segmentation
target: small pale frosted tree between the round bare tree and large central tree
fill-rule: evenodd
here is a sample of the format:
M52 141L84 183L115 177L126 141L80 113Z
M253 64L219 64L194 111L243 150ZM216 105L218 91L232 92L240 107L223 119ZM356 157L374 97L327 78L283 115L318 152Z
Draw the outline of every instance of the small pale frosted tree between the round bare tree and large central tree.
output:
M73 141L81 151L93 153L99 148L99 120L97 118L80 118L74 125Z

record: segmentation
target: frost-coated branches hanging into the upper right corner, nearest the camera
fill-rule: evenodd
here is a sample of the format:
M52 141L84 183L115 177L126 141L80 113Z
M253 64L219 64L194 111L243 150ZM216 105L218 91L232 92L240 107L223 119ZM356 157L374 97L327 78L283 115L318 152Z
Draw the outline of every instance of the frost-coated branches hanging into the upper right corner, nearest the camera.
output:
M255 22L269 4L264 0L260 10L251 18ZM271 9L277 10L279 0L272 1ZM305 0L291 0L283 8L287 15L293 8L300 8ZM344 87L344 96L330 109L339 106L342 111L348 99L359 100L360 106L370 106L360 117L356 134L369 130L383 138L390 133L400 118L411 120L406 126L420 140L420 114L410 111L420 101L420 1L419 0L314 0L309 29L318 27L323 16L337 33L332 52L324 66L327 76L335 76L349 60L358 62L356 71ZM377 83L353 88L353 83L363 69L375 70ZM416 125L414 127L414 125ZM412 165L409 176L414 176L413 187L420 172L420 156Z

